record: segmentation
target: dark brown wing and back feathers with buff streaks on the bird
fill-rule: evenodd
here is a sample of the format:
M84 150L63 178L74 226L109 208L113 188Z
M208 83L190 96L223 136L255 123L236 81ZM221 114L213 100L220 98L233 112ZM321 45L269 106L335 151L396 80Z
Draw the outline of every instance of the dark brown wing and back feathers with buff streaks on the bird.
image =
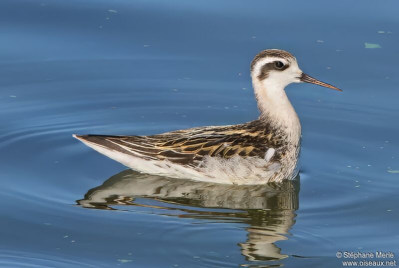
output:
M259 127L256 120L242 125L198 127L153 136L80 136L107 149L149 160L168 159L182 165L195 165L207 155L224 159L237 155L263 158L268 148L278 147L270 137L270 132Z

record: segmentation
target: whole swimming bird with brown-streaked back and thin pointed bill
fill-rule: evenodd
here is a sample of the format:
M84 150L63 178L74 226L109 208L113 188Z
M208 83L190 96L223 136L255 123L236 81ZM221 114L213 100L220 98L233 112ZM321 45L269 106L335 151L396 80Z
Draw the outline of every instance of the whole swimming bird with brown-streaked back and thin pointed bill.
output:
M301 124L285 87L306 82L342 91L305 74L296 58L266 49L250 64L259 117L226 126L150 136L73 135L94 150L145 174L203 182L281 183L298 174Z

